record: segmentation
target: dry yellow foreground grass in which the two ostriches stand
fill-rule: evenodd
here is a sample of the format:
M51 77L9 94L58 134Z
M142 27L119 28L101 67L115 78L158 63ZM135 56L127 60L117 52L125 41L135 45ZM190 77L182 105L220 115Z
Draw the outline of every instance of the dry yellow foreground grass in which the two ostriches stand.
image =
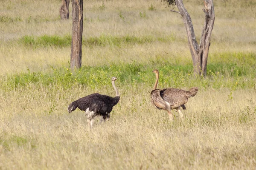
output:
M199 91L189 99L185 119L175 113L170 123L166 111L151 105L151 88L119 87L121 100L111 119L96 122L88 132L84 113L68 114L66 109L70 101L94 91L36 89L0 94L3 169L253 169L256 165L255 91L235 91L229 102L227 90ZM111 88L95 91L114 94Z

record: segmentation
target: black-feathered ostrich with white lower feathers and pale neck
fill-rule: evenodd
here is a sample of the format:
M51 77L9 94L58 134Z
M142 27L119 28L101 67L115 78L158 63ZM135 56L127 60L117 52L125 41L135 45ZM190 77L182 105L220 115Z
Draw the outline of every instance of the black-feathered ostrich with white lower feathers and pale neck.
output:
M108 120L109 113L112 111L113 106L116 105L120 99L118 90L115 86L116 79L116 77L111 78L113 88L116 91L115 97L98 93L90 94L70 103L67 111L71 113L72 111L76 110L76 108L79 108L81 111L85 111L89 129L90 127L93 127L93 120L95 116L102 116L104 121L106 119Z

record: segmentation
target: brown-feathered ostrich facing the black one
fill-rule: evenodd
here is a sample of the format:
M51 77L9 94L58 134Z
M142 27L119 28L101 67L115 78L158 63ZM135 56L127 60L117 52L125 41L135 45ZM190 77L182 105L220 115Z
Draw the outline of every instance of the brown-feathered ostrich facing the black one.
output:
M158 108L166 110L169 114L169 118L172 121L172 109L176 109L180 117L183 118L183 114L180 111L180 107L183 110L186 109L185 105L188 102L189 97L193 97L196 95L198 88L193 87L189 89L189 91L184 91L178 88L164 88L163 90L157 89L159 72L158 70L152 71L156 74L156 82L154 85L154 89L151 91L151 101Z

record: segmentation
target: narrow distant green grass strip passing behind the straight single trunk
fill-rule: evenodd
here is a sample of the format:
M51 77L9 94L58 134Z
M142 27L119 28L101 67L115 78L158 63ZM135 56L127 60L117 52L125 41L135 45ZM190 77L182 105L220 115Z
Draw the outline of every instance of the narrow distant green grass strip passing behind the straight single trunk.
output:
M72 37L70 35L66 36L49 36L43 35L40 37L28 36L25 35L20 38L19 42L21 45L24 45L28 48L40 48L40 47L70 47L71 46ZM152 43L152 42L173 42L175 37L170 35L169 37L152 37L152 36L112 36L112 35L105 35L102 34L99 37L88 37L83 38L82 44L93 47L93 46L118 46L121 45L131 45L131 44L145 44L145 43Z

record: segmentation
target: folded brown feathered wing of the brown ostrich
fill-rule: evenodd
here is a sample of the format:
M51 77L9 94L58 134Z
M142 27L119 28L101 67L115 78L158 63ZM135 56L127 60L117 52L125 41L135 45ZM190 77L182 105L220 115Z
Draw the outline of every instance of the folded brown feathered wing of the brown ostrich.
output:
M171 105L171 109L175 109L188 102L186 91L177 88L166 88L160 94L164 101Z

